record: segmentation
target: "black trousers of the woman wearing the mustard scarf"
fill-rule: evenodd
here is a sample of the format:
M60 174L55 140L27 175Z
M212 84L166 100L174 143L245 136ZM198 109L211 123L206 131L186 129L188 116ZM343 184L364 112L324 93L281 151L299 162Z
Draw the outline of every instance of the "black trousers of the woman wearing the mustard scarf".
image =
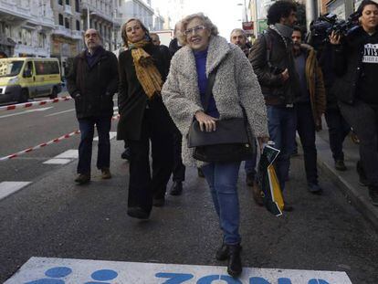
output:
M145 110L141 139L128 141L131 152L128 205L140 206L148 212L152 209L152 198L164 198L173 168L173 127L167 122L170 118L162 120L162 115L165 114Z

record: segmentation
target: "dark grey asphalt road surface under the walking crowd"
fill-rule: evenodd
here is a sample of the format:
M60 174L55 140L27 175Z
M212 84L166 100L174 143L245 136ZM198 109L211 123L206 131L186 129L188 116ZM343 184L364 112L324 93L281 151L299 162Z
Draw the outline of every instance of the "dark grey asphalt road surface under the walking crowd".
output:
M1 116L21 112L0 113L0 156L76 130L73 101L53 106L7 118ZM0 282L33 256L225 265L215 260L221 234L205 180L195 169L187 170L183 195L168 195L163 208L140 222L126 216L129 165L120 159L121 142L111 140L108 181L93 170L92 182L79 187L73 183L76 160L43 164L78 144L79 135L0 162L1 181L31 182L0 200ZM306 191L301 155L292 159L285 193L295 207L291 213L275 217L255 205L244 181L241 169L245 267L345 271L352 283L378 283L377 232L325 174L320 173L323 195Z

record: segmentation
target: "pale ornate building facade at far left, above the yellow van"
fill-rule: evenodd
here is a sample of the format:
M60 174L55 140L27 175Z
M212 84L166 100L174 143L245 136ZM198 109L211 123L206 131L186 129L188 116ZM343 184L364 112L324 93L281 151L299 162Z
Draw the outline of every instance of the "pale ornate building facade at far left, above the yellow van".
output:
M49 1L0 0L0 50L8 57L49 57L53 29Z

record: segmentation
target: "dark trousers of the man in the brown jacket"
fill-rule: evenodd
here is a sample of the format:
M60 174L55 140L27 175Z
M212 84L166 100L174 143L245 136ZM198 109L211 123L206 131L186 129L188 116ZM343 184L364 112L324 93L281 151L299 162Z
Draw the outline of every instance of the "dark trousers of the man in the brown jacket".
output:
M297 110L297 131L303 147L307 182L318 184L317 151L315 146L315 122L309 103L299 103Z

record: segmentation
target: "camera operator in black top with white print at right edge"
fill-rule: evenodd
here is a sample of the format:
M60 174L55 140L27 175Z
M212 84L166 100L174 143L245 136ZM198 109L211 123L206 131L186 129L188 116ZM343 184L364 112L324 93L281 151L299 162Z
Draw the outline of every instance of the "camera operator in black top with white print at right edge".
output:
M378 4L363 0L358 10L360 26L345 37L332 32L334 90L341 113L360 139L362 168L369 195L378 205Z

